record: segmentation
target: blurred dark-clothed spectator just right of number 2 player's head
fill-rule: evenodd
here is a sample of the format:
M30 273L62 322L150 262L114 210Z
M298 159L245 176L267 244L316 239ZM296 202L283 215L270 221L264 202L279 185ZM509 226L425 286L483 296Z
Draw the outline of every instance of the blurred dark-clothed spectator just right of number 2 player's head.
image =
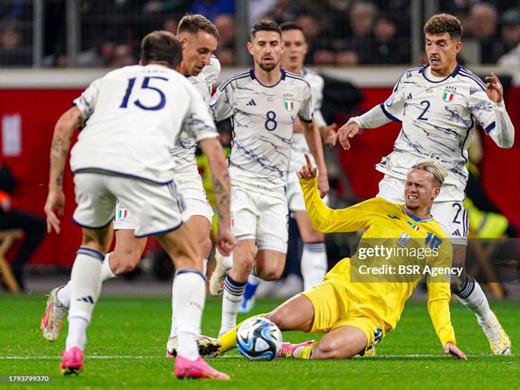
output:
M478 39L480 63L495 64L498 57L493 46L500 40L498 37L498 17L494 6L488 3L475 4L469 11L472 37Z

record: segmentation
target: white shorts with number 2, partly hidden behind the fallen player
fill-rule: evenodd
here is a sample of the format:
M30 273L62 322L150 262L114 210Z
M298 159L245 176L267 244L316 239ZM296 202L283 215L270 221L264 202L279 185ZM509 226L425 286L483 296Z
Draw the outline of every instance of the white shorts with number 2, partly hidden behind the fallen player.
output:
M384 175L379 181L379 193L382 197L392 203L404 203L405 182L391 176ZM467 234L469 221L467 211L464 207L464 193L456 186L444 184L441 187L440 200L435 200L431 206L431 215L443 228L444 233L455 245L467 245Z

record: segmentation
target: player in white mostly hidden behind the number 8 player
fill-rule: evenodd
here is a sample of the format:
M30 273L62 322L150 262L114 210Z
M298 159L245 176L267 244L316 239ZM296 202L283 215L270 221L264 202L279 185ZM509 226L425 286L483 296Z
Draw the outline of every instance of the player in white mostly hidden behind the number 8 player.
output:
M280 24L282 30L282 43L284 45L281 57L281 66L294 74L298 74L308 82L311 87L311 99L313 103L313 120L320 129L322 141L325 145L332 145L336 131L335 124L327 126L323 119L320 108L323 101L323 77L307 67L304 67L304 58L308 46L304 31L295 22L283 22ZM308 145L305 141L304 130L299 119L294 120L294 128L291 140L291 154L289 159L289 171L287 172L287 206L289 212L294 214L301 240L303 251L301 253L301 275L304 277L304 290L317 285L323 280L327 273L327 251L325 248L325 235L314 230L305 210L304 194L298 182L297 171L305 164L304 154L310 155ZM314 161L313 161L314 164ZM291 239L291 238L290 238ZM297 238L299 240L299 238ZM296 259L295 259L296 261ZM290 282L288 276L286 282ZM259 278L249 275L245 288L244 299L240 306L240 313L248 313L254 306L254 293L259 284ZM284 288L282 286L281 288Z

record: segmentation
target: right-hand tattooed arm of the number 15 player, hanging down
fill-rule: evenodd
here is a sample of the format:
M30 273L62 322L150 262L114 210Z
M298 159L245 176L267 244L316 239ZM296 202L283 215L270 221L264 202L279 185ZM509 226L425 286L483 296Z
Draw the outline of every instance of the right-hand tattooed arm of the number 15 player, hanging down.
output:
M213 192L216 208L219 213L219 228L216 233L216 247L224 256L230 254L237 240L231 233L230 194L231 186L228 164L222 145L217 138L209 138L199 143L202 152L207 156L209 170L212 172Z

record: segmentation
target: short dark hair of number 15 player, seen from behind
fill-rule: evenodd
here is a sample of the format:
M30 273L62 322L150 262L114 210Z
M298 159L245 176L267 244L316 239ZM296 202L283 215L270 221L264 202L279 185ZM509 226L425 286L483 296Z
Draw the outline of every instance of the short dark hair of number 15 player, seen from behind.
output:
M175 69L182 60L181 42L171 32L150 32L141 41L141 60L144 65L162 63Z

